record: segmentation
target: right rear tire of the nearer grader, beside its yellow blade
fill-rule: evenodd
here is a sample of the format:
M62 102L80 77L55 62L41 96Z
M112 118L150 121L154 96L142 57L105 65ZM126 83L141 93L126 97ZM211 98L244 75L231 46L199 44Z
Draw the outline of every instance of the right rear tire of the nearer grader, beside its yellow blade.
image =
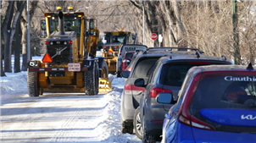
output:
M92 69L87 69L84 73L86 95L92 96L98 93L98 68L97 63L92 63Z

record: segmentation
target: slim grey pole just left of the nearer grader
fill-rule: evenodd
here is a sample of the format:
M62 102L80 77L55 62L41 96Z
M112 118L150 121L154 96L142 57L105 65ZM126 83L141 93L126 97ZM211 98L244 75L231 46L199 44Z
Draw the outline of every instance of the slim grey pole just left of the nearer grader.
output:
M26 2L26 11L27 11L27 59L28 61L31 60L31 23L30 23L30 0L27 0Z

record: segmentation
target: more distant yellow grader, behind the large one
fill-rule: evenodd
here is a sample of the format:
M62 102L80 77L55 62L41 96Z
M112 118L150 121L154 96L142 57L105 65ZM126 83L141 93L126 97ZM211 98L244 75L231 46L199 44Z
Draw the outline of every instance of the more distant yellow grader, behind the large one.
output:
M132 35L130 31L105 31L103 44L103 58L108 63L109 73L118 74L120 77L120 64L118 62L120 48L125 44L134 44L136 35ZM132 41L133 40L133 41Z

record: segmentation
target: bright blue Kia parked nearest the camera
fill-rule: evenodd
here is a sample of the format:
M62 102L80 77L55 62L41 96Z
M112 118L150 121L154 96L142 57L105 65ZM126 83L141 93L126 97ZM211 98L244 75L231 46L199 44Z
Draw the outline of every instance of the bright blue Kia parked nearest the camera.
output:
M162 142L255 142L255 75L251 65L190 69L178 102L165 115ZM157 101L165 105L172 98L160 93Z

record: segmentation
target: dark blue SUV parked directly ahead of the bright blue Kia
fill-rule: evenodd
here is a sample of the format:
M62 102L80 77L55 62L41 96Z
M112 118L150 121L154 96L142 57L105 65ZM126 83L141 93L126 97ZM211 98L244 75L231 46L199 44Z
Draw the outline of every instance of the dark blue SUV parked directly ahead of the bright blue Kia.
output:
M144 133L142 135L145 143L152 143L161 140L164 114L167 113L178 99L178 92L186 77L186 72L193 66L209 64L231 64L225 58L209 57L199 52L194 54L170 54L160 58L154 65L155 70L146 81L144 79L135 80L137 88L146 87L140 99L140 107L134 114L134 125L140 126ZM147 85L147 86L146 86ZM169 93L172 101L169 104L158 102L159 93ZM170 96L165 96L168 100ZM163 99L164 100L164 99ZM137 125L139 124L139 125Z

